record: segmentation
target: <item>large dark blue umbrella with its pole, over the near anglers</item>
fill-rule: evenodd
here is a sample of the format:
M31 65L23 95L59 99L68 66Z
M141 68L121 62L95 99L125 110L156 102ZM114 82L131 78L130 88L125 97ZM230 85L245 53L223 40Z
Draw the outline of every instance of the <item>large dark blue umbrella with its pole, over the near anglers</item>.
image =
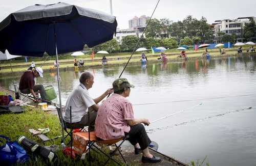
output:
M116 27L115 16L93 9L66 3L33 5L11 13L0 23L0 51L7 49L11 54L31 57L42 57L45 52L56 54L58 64L58 53L109 41ZM58 65L57 76L61 105Z

